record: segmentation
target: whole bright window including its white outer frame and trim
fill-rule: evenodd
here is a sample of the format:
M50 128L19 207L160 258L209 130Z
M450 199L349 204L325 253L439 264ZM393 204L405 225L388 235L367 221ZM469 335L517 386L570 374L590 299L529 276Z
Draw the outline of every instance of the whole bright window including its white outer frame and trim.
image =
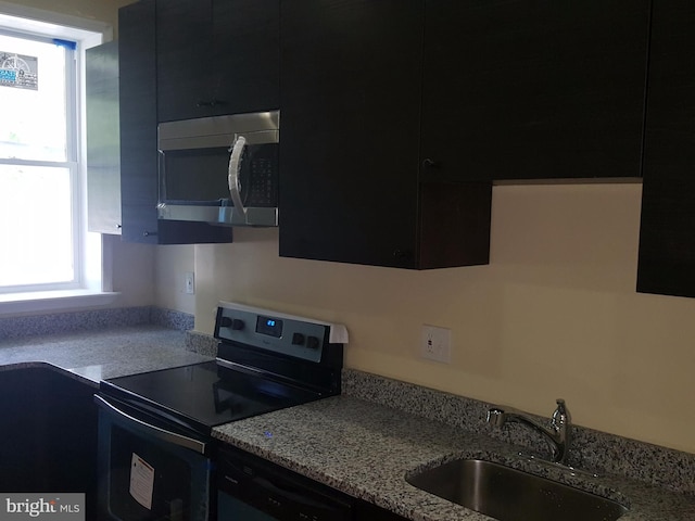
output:
M86 226L83 59L108 33L0 2L0 302L101 291L100 236Z

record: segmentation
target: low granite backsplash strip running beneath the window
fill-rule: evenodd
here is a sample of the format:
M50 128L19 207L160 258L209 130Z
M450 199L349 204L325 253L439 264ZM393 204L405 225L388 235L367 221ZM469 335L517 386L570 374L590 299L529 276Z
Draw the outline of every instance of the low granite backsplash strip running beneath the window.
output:
M54 313L0 318L0 340L37 334L112 329L140 323L154 323L169 329L193 329L193 316L153 306L116 307L86 312Z

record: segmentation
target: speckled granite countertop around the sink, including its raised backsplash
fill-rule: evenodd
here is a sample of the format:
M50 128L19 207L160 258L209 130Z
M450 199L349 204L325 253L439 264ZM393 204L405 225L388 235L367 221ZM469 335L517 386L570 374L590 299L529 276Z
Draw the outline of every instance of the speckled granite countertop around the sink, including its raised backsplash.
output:
M599 476L594 476L589 472L571 472L520 455L520 448L529 452L509 443L518 440L492 437L478 420L478 409L484 408L484 404L359 371L348 370L344 374L341 396L228 423L215 428L213 435L415 521L490 519L405 481L409 473L459 457L498 461L617 500L630 509L621 521L695 520L693 455L634 445L636 442L617 436L603 440L591 431L574 428L579 446L572 458L584 461L584 468L596 470L602 458L612 458L608 445L626 450L624 459L643 461L634 463L635 470L622 474L599 471ZM375 403L367 396L370 393L375 394L371 397L391 401L396 406ZM429 412L403 410L408 407ZM463 428L435 418L451 412L460 418L456 422L470 420L470 423ZM592 441L594 447L587 442L592 436L599 440ZM597 454L593 465L591 450ZM624 466L621 461L608 465L614 466L614 471ZM681 468L659 470L670 466ZM630 473L634 475L626 475ZM661 481L668 481L668 487L658 484Z

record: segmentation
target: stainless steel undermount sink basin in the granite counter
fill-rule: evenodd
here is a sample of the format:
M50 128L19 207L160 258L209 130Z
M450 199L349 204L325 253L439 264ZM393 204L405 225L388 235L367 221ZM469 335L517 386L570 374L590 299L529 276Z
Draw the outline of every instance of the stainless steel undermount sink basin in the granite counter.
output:
M406 478L413 486L500 521L612 521L610 499L481 459L457 459Z

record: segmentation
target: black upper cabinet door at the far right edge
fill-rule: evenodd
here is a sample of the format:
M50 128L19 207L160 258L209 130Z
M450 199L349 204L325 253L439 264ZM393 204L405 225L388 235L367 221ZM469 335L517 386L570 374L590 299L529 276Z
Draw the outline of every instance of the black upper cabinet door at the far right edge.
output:
M695 4L652 24L637 291L695 296Z

